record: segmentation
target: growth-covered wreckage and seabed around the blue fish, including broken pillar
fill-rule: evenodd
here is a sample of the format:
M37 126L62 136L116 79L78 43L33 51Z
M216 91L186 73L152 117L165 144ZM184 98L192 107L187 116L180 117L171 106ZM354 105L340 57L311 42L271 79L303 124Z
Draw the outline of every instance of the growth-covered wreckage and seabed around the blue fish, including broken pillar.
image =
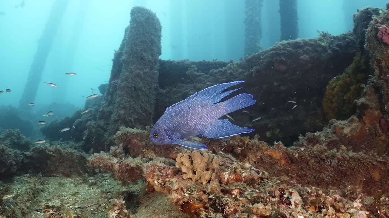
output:
M389 217L388 10L359 10L342 35L192 62L159 60L158 18L134 7L89 113L42 129L45 146L0 135L0 217ZM258 100L230 114L252 135L192 138L201 152L149 142L166 107L235 80Z

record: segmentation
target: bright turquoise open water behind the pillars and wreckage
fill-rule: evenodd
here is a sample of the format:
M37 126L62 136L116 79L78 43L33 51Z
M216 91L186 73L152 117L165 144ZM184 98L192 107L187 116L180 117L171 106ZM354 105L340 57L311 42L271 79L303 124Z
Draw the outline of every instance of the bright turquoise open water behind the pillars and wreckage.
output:
M0 106L19 106L37 40L53 0L0 1ZM210 3L209 3L210 2ZM385 0L298 0L299 37L319 31L340 34L352 28L357 8L384 7ZM69 114L84 106L92 89L110 77L114 51L119 48L134 5L156 13L163 26L161 59L230 60L244 54L243 0L70 0L42 69L33 112L66 104ZM261 46L268 48L280 35L278 2L265 0ZM65 76L75 72L77 76ZM58 88L44 85L52 82ZM82 97L84 96L84 97ZM72 109L74 107L74 110Z

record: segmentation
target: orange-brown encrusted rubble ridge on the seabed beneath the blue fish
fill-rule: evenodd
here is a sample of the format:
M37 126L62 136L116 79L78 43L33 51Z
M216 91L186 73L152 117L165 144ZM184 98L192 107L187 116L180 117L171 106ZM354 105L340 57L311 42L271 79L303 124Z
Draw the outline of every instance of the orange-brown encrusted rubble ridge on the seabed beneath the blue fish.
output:
M387 157L345 147L331 150L325 142L270 147L235 136L224 143L209 143L212 152L183 150L175 163L161 157L140 163L148 192L168 194L172 203L193 217L351 217L389 207ZM145 151L142 146L147 145L140 145ZM124 155L116 150L112 154ZM112 162L120 159L104 156L92 156L89 163L112 171ZM126 180L117 171L112 173ZM127 168L121 175L137 173ZM377 198L381 201L373 200Z

